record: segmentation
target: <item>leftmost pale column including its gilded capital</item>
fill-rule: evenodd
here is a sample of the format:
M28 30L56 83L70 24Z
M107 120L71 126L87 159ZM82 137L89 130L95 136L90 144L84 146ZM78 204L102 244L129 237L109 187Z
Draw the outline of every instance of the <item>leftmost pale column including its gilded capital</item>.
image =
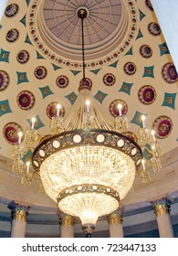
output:
M11 238L25 238L26 217L29 207L15 203L14 205L11 204L9 208L12 215Z

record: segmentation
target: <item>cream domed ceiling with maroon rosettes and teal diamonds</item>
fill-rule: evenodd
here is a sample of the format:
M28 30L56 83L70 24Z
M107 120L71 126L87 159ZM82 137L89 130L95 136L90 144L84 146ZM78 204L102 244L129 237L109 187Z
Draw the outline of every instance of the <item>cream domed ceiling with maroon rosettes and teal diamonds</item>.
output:
M88 12L86 77L94 98L108 119L122 101L133 133L146 115L163 153L173 150L178 76L150 1L15 0L8 1L0 26L0 155L12 158L17 133L25 132L33 117L37 132L48 134L57 103L68 115L76 101L81 6ZM30 155L28 150L24 160Z

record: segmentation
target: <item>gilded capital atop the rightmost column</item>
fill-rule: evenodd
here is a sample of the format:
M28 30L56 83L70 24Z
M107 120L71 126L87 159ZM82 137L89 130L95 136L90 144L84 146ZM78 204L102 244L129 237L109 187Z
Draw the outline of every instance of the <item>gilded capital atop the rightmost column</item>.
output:
M168 197L162 197L151 201L156 217L163 214L170 214L172 201Z

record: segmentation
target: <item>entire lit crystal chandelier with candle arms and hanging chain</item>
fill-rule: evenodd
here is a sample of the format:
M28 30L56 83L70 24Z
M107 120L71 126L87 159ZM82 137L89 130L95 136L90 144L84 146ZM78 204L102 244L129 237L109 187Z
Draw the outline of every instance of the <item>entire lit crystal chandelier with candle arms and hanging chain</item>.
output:
M155 133L142 127L138 141L128 132L127 117L122 105L114 122L109 121L91 94L91 86L85 78L84 19L88 11L78 10L82 30L83 79L79 85L79 96L67 117L63 117L61 106L51 120L53 134L40 136L35 129L35 120L26 131L22 142L19 133L14 146L15 173L22 173L22 184L30 186L35 174L41 178L49 197L58 203L58 208L71 216L79 217L87 236L95 229L99 216L110 214L120 206L120 200L131 190L136 173L142 182L151 180L146 171L142 148L150 144L153 170L160 170L162 149L155 140ZM29 171L29 162L24 171L22 157L25 145L35 144L31 164L35 172ZM142 165L141 165L142 163ZM140 168L140 166L142 166Z

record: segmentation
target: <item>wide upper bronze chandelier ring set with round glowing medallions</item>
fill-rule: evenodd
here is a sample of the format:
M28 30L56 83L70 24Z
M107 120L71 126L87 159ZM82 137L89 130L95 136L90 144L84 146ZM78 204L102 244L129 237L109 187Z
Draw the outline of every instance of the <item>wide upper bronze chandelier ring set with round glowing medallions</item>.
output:
M61 150L69 147L79 147L84 145L105 146L114 148L125 155L129 155L134 161L136 169L141 165L141 147L131 138L121 133L107 130L91 129L91 130L74 130L64 133L58 133L50 136L37 146L32 155L32 164L38 172L40 165L47 159Z

